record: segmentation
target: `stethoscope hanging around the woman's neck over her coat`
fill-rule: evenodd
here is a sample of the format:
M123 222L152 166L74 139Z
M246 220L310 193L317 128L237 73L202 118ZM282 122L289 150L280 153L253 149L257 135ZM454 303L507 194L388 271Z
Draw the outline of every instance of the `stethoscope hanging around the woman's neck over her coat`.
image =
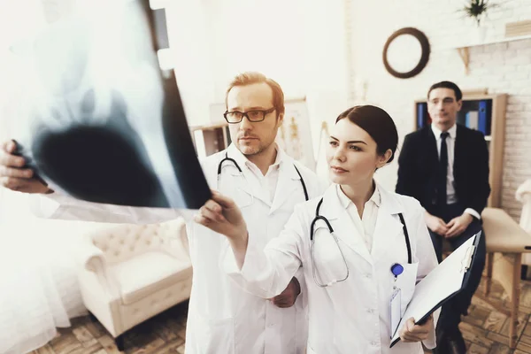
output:
M339 245L339 242L337 241L337 236L334 235L334 229L330 225L330 222L328 221L328 219L325 216L319 215L319 209L320 209L320 206L321 206L322 203L323 203L323 198L321 198L319 200L319 203L317 204L317 207L315 208L315 218L313 218L312 224L310 224L310 242L311 242L311 246L310 247L312 249L313 281L315 281L315 283L319 287L325 288L325 287L329 287L331 285L334 285L336 282L346 281L347 278L349 278L349 266L347 265L347 260L346 260L345 255L343 254L343 252L341 250L341 246ZM407 232L407 227L405 226L404 215L402 215L402 213L399 213L398 217L400 218L400 222L402 222L402 227L404 229L405 247L407 248L407 263L408 264L412 264L412 245L410 243L409 234ZM328 231L330 232L330 235L332 235L332 237L334 238L335 244L337 245L337 249L341 253L341 257L342 257L342 260L343 260L343 263L344 263L344 266L345 266L345 270L346 270L345 276L342 279L335 279L335 280L332 280L332 281L328 281L327 283L322 283L322 282L317 280L317 275L316 275L317 266L315 264L315 256L314 256L314 242L315 241L313 239L313 231L314 231L313 228L315 227L315 223L318 220L323 220L325 222L325 224L327 224ZM401 273L404 272L404 266L402 266L402 265L400 265L398 263L395 263L393 266L391 266L390 270L391 270L391 273L393 273L393 275L395 276L395 280L396 280L398 275L400 275Z

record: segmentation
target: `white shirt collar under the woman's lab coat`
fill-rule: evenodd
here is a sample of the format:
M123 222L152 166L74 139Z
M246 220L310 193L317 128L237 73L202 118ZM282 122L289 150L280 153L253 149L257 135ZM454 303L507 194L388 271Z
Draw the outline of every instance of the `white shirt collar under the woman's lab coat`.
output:
M376 188L374 189L373 196L366 201L361 218L359 218L356 204L352 203L350 198L345 195L339 184L337 185L337 196L339 197L342 206L350 215L350 219L352 219L354 225L356 225L356 228L358 229L358 235L363 237L363 241L366 244L367 250L369 250L369 253L371 253L373 250L374 227L376 227L376 218L378 216L378 209L380 208L381 203L378 185L376 185Z

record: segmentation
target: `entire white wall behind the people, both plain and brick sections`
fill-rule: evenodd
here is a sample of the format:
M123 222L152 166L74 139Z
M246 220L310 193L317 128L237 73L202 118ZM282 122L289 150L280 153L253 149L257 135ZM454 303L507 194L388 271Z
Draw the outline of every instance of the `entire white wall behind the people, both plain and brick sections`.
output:
M176 54L181 56L177 77L190 125L208 123L208 105L222 102L228 81L246 70L279 81L287 97L306 96L315 145L321 121L331 124L353 104L385 108L396 119L401 145L413 129L413 101L435 81L507 93L502 206L519 217L514 192L531 178L531 40L471 48L466 75L455 47L468 42L474 24L458 12L460 0L193 3L181 6L181 20L171 28L184 51ZM486 41L503 38L504 24L521 19L531 19L531 1L503 2L484 21ZM431 45L427 67L408 80L392 77L381 60L387 38L401 27L419 28ZM396 183L396 167L394 162L377 175L389 189Z

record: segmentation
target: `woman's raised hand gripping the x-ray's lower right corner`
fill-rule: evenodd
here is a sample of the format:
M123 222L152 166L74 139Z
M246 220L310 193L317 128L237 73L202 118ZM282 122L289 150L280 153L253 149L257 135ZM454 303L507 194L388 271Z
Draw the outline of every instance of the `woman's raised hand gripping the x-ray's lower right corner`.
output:
M212 190L212 199L199 209L194 220L231 240L247 236L247 225L240 208L231 198L215 190Z

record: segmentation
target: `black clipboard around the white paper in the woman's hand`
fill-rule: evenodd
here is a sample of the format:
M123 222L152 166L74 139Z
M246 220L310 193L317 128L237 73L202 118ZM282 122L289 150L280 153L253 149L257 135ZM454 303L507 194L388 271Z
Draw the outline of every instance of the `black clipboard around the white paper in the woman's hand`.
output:
M470 244L470 240L471 239L473 239L472 244ZM466 247L466 250L463 250L463 252L465 254L465 258L461 259L461 266L462 266L461 272L465 273L465 275L463 276L463 281L461 282L461 287L457 291L455 291L452 294L450 294L450 296L446 296L442 300L438 301L436 304L433 304L431 306L431 308L427 312L425 312L423 315L420 316L420 319L415 321L415 324L421 324L424 321L426 321L427 318L433 312L435 312L437 309L439 309L444 303L449 301L451 298L453 298L454 296L458 295L458 293L461 292L461 290L463 290L466 287L466 284L468 284L468 280L470 278L469 270L470 270L470 267L473 265L473 260L474 260L475 255L476 255L480 239L481 239L481 231L478 232L477 234L473 235L472 237L470 237L470 239L467 242L463 243L463 245L461 245L457 249L457 250L459 250L459 249L461 249L461 247ZM456 252L457 250L454 250L454 252ZM440 266L443 266L444 262L446 262L448 259L450 259L452 262L455 261L455 260L453 260L450 257L451 257L451 254L450 254L450 256L448 258L445 258L443 260L443 262L441 262L439 264L439 266L435 267L435 269L432 270L432 272L428 273L427 276L422 281L424 281L426 279L429 279L428 277L430 276L430 274L434 273L435 270L437 270L437 268L439 268ZM419 281L419 283L417 284L416 287L418 287L419 284L422 283L422 281ZM415 295L413 294L413 298L414 298L414 296ZM412 302L413 302L413 298L412 298ZM412 304L412 302L410 302L410 304ZM409 308L410 304L408 304L408 308ZM389 345L389 348L393 348L393 346L397 342L400 341L400 337L399 336L396 337L396 335L399 333L400 329L402 329L402 326L404 325L403 321L407 320L408 318L411 317L411 316L407 315L408 308L406 308L406 311L404 313L404 317L400 320L400 323L398 324L398 327L396 328L396 333L393 335L393 338L391 340L391 344Z

